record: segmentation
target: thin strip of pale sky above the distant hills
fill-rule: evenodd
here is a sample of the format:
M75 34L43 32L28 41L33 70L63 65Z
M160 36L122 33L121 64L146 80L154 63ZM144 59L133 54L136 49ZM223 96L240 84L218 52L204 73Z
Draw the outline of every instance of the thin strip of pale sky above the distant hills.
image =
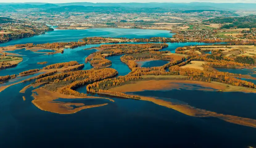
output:
M256 3L256 0L0 0L0 2L215 2L215 3Z

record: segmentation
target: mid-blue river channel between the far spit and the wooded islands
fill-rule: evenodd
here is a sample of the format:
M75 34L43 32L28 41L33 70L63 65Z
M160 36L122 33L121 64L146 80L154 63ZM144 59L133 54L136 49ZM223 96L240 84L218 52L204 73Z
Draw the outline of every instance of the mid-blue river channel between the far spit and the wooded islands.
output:
M27 39L27 38L26 38ZM105 43L103 43L105 44ZM118 43L120 44L120 43ZM132 44L139 44L139 43L132 43ZM177 43L168 43L169 47L164 48L163 50L174 50L176 48L173 48L173 46L177 46ZM198 44L198 43L195 43ZM15 51L8 51L8 52L12 52L12 53L17 53L20 55L24 55L23 57L23 61L21 63L18 64L18 66L16 66L15 68L9 68L6 70L0 70L0 76L5 76L5 75L11 75L11 74L17 74L19 72L23 72L26 70L30 70L30 69L37 69L37 68L43 68L47 65L51 65L51 64L55 64L55 63L61 63L61 62L68 62L68 61L77 61L80 64L85 64L85 67L83 68L83 70L87 70L92 68L92 66L89 63L85 63L85 58L90 55L93 52L96 52L95 49L91 49L91 50L84 50L86 48L91 48L91 47L98 47L101 44L89 44L89 45L85 45L85 46L81 46L81 47L76 47L76 48L68 48L64 50L64 53L57 53L57 54L52 54L52 55L44 55L44 53L35 53L32 52L30 50L25 50L24 49L20 49L20 50L15 50ZM185 46L187 45L187 43L179 43L180 46ZM170 48L172 47L172 48ZM120 57L121 55L118 56L111 56L111 57L107 57L107 59L109 60L113 60L112 61L112 66L110 68L115 68L115 69L122 69L119 72L119 75L126 75L130 72L130 69L128 68L128 66L126 64L124 64L123 62L120 61ZM48 62L47 64L37 64L38 62Z

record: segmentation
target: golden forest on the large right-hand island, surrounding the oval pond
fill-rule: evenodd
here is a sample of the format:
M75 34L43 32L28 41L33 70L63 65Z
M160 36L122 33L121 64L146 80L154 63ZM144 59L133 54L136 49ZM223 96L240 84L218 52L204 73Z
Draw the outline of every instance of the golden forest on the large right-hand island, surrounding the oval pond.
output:
M114 47L114 45L105 45L106 47ZM207 48L207 47L206 47ZM113 50L113 48L111 48ZM89 92L94 93L103 93L113 96L126 97L139 99L138 96L127 95L125 93L109 91L109 88L122 86L125 84L132 83L132 81L147 80L141 76L145 75L181 75L188 76L183 78L184 80L196 80L196 81L205 81L205 82L221 82L225 84L231 84L234 86L242 86L247 88L256 88L256 85L252 82L245 80L237 79L241 77L241 74L233 74L229 72L218 72L215 69L211 69L210 66L220 66L220 67L250 67L255 64L255 58L246 57L246 56L237 56L233 58L223 56L222 50L212 51L212 55L205 54L199 55L194 51L200 51L199 47L178 47L176 53L182 53L188 55L187 60L184 61L184 57L179 55L162 55L165 51L144 51L137 53L130 53L123 55L120 59L122 62L126 63L132 71L126 76L118 76L117 78L105 79L92 84L88 84L86 89ZM99 51L101 53L106 53ZM117 48L115 52L120 52ZM112 52L108 52L113 54ZM170 57L172 56L172 57ZM143 60L147 58L163 58L170 59L168 64L159 67L151 68L140 68L136 64L136 60ZM204 70L194 69L194 68L180 68L186 64L189 64L192 60L207 61L208 63L204 64ZM167 72L165 69L168 68Z

